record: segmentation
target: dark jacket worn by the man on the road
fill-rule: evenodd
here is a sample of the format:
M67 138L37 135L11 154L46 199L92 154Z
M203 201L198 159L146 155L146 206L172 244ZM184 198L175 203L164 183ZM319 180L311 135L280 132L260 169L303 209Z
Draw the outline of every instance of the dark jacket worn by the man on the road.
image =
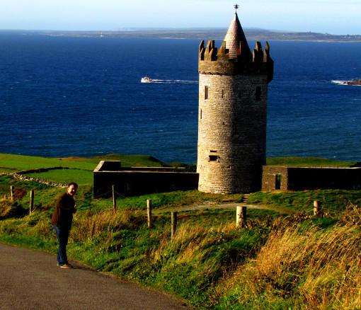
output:
M59 196L52 214L52 224L60 229L71 229L73 213L76 212L74 198L68 193Z

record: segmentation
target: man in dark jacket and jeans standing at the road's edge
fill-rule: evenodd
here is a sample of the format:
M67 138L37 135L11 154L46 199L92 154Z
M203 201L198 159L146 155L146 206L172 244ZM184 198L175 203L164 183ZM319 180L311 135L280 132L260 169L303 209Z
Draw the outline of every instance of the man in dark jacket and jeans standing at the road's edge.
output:
M67 193L59 196L57 205L55 205L54 213L52 214L52 226L57 234L59 247L57 249L57 265L60 268L71 268L67 258L67 243L69 238L69 231L71 229L71 222L73 220L73 213L76 212L76 205L74 195L78 185L74 182L70 183L67 188Z

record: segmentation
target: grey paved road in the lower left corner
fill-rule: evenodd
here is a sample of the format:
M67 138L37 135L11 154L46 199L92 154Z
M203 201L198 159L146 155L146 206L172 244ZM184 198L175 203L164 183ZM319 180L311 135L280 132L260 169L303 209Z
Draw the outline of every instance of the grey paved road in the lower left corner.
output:
M189 310L173 297L104 275L75 261L0 243L0 309Z

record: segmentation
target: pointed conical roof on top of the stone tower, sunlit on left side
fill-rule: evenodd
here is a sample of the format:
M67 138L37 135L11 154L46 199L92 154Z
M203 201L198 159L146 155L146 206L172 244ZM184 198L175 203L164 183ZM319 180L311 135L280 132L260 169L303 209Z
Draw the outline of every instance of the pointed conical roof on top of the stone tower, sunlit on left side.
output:
M231 25L229 25L224 41L226 41L226 48L229 50L229 59L237 57L240 47L242 54L251 54L237 13L234 13L234 18L231 21Z

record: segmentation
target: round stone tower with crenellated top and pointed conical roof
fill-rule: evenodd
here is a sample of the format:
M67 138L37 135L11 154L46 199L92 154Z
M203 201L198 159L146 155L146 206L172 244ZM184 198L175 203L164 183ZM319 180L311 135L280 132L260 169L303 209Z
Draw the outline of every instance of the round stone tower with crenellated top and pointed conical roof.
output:
M268 42L253 54L237 13L222 47L200 43L198 71L198 190L251 193L260 190L265 165L268 83L273 60Z

